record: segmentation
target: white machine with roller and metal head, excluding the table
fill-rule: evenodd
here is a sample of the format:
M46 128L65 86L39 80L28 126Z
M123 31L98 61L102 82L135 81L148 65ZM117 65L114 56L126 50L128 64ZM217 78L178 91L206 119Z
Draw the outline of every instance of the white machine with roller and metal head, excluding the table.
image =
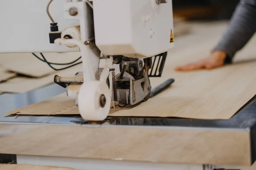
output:
M149 77L161 76L166 51L173 47L171 0L16 0L0 5L6 25L0 29L0 53L31 52L52 67L43 52L80 51L83 70L52 79L69 87L67 95L86 120L104 120L110 108L146 101Z

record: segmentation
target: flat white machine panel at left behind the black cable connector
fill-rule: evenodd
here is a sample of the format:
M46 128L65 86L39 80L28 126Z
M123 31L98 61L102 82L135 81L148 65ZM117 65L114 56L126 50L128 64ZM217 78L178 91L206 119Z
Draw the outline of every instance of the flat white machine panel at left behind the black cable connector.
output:
M68 52L79 48L49 43L51 20L46 7L49 0L1 0L0 53ZM49 11L59 30L79 25L79 20L64 19L66 0L54 0Z

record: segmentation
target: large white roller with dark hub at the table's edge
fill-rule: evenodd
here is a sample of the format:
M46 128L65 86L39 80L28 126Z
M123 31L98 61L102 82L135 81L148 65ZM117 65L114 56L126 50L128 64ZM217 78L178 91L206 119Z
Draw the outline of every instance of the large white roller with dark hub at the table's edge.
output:
M100 97L105 96L105 105L101 107ZM79 113L83 119L100 121L106 119L111 105L108 85L101 81L86 82L81 85L78 94Z

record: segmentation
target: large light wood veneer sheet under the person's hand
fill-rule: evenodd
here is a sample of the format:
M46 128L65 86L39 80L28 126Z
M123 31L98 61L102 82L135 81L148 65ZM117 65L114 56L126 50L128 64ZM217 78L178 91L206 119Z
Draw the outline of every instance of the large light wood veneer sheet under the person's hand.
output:
M204 28L211 30L209 26ZM177 65L206 57L218 42L224 28L219 29L219 36L211 36L207 31L200 31L197 33L197 37L200 37L201 41L199 39L193 40L191 36L177 39L176 45L180 50L177 50L177 48L176 51L174 50L175 52L171 50L168 54L162 77L151 79L151 85L154 88L172 77L175 79L172 87L136 107L111 110L109 116L230 119L236 111L256 94L256 75L254 74L256 72L256 37L253 37L243 51L239 52L235 63L232 65L226 65L211 71L174 71ZM212 29L218 30L216 27ZM193 42L196 42L196 44L193 44ZM54 114L79 113L78 110L70 109L69 111L67 108L72 108L74 105L68 105L67 107L67 104L65 104L67 101L61 105L58 102L59 99L63 99L62 96L55 98L51 102L38 103L38 105L44 105L40 106L42 108L40 111L35 105L31 105L8 113L40 113L45 115L53 112ZM55 102L58 105L54 105L53 103ZM73 100L70 100L70 102L73 103ZM50 108L49 103L54 107Z

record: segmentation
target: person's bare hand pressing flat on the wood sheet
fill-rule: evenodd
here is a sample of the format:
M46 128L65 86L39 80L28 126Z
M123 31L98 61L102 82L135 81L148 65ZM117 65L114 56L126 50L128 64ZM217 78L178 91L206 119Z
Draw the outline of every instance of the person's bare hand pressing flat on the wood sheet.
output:
M224 65L226 53L224 51L213 51L209 57L201 59L197 62L192 62L186 65L181 65L175 68L176 71L191 71L198 69L213 69Z

